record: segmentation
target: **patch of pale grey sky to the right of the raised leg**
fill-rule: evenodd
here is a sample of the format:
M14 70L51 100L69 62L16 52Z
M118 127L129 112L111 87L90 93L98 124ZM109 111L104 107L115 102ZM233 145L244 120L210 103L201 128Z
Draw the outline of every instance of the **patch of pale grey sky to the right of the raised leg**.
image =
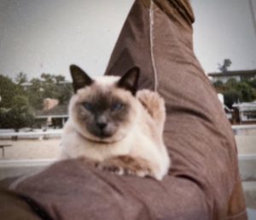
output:
M256 0L253 12L256 15ZM192 0L195 54L206 72L232 61L230 70L256 69L256 26L249 0ZM256 24L256 20L254 21Z

